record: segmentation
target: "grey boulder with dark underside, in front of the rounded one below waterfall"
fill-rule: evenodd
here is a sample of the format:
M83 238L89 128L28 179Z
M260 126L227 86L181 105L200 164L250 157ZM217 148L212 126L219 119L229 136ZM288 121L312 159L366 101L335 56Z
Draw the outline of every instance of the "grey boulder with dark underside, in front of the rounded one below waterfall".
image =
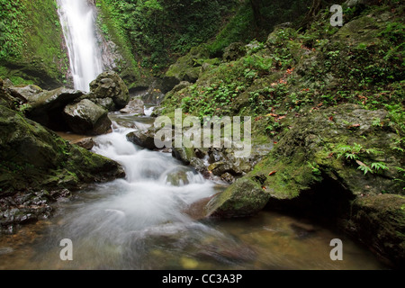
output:
M101 135L112 126L108 111L88 99L67 105L64 118L69 128L77 134Z

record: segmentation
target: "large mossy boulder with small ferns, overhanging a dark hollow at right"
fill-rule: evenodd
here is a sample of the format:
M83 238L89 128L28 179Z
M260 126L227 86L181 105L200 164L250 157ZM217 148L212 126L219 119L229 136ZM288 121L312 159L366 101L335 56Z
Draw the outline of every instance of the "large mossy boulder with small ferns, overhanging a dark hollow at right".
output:
M392 125L384 110L352 104L311 112L246 177L261 179L272 196L269 203L311 194L322 183L340 187L346 202L364 194L403 193L403 148Z

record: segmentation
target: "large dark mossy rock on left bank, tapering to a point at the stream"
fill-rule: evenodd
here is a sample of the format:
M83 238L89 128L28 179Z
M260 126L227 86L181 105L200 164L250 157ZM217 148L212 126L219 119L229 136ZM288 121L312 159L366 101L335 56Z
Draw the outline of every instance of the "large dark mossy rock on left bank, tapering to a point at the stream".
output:
M123 176L116 162L70 145L18 112L4 106L0 106L0 112L0 189L3 193L76 189L80 184Z

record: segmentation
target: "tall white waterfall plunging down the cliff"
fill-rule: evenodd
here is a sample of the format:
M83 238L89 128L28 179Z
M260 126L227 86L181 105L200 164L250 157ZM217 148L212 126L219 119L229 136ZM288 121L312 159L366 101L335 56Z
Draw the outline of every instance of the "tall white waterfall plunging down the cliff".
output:
M102 53L95 36L94 4L87 0L58 0L58 14L75 89L89 92L89 84L103 72Z

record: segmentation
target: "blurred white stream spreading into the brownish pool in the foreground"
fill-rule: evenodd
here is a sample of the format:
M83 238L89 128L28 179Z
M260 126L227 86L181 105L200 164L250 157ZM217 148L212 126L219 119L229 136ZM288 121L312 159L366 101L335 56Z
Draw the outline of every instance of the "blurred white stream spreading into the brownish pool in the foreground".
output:
M193 218L190 205L224 184L127 141L131 127L148 127L150 118L111 118L113 132L95 139L94 152L120 162L126 178L94 184L56 203L51 219L1 237L0 269L385 268L351 239L306 220L270 211L239 220ZM64 238L72 240L73 261L59 257ZM343 241L343 261L329 257L332 238Z

